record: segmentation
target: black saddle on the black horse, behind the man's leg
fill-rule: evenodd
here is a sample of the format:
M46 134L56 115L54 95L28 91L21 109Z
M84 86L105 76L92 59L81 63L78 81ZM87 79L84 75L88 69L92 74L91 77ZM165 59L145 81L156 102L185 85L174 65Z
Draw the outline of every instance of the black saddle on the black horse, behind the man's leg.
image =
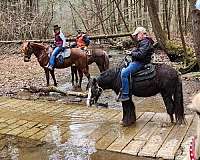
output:
M155 77L156 71L155 71L155 65L153 64L147 64L144 66L144 69L136 72L135 74L131 75L134 81L144 81L147 79L151 79Z

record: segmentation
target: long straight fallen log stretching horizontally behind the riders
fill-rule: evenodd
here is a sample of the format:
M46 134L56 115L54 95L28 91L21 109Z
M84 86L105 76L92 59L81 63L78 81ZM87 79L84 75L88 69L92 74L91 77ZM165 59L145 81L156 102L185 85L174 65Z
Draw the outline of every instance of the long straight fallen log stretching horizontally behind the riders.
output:
M97 36L90 36L91 40L96 39L107 39L107 38L116 38L116 37L126 37L131 36L132 32L130 33L120 33L120 34L111 34L111 35L97 35ZM75 38L67 38L66 41L73 42L75 41ZM13 41L0 41L0 44L9 44L9 43L23 43L24 41L27 42L36 42L36 43L53 43L54 39L35 39L35 40L13 40Z

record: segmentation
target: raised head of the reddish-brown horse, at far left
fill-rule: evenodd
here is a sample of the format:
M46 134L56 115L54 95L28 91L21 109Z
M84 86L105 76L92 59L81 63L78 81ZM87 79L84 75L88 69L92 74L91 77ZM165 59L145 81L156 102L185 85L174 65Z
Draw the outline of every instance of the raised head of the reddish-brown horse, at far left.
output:
M30 42L23 42L20 50L21 53L24 55L24 62L29 62L33 53Z

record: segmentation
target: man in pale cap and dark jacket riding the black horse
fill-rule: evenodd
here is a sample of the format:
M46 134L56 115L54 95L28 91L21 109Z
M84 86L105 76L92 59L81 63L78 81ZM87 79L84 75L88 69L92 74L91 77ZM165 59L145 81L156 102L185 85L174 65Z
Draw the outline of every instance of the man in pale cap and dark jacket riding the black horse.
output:
M129 100L129 76L141 70L145 64L150 63L151 55L154 51L154 42L148 37L144 27L137 27L132 35L138 42L138 46L131 51L132 62L121 71L122 91L118 99L119 101Z

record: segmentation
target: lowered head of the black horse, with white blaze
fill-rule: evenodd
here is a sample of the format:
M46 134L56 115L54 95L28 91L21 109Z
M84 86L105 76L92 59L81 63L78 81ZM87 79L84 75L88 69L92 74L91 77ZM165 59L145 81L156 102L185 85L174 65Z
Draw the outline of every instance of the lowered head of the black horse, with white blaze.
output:
M92 104L97 103L99 97L101 96L103 89L99 87L97 79L93 78L88 83L88 98L87 98L87 106L91 106Z

